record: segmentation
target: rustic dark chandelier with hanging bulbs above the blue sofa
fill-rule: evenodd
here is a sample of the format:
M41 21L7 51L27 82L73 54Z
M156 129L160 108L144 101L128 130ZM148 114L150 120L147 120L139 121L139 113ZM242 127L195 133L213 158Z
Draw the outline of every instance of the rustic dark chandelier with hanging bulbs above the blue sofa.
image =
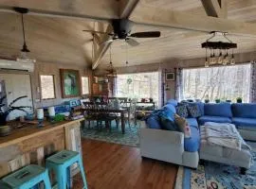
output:
M206 60L205 67L210 67L210 65L233 65L235 64L233 49L237 48L237 43L232 43L226 36L227 33L212 31L210 32L212 36L205 42L201 43L202 48L206 49ZM222 41L211 41L216 36L222 36L227 42ZM229 50L232 50L231 56L229 57ZM215 52L219 51L219 55L216 57ZM208 51L210 51L210 56L208 57Z

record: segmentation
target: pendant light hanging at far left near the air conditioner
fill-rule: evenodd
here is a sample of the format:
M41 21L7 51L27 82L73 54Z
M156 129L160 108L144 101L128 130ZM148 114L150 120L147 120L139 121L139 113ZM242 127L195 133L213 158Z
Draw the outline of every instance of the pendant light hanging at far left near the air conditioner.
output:
M21 49L21 54L20 56L17 58L17 61L22 61L22 62L35 62L36 60L33 59L29 59L28 57L28 53L30 52L28 47L27 47L27 43L26 43L26 35L25 35L25 28L24 28L24 19L23 19L23 15L27 14L28 9L26 8L14 8L14 10L18 13L21 14L21 21L22 21L22 31L23 31L23 46Z

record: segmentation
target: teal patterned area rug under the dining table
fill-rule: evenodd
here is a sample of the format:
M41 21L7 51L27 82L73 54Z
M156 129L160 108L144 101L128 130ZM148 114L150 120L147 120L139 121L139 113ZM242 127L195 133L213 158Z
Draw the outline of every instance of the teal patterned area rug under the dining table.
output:
M82 137L87 139L99 140L108 143L115 143L124 146L138 146L139 145L139 126L126 126L125 133L122 134L121 129L117 129L115 125L112 126L111 132L109 129L97 129L96 127L82 129Z

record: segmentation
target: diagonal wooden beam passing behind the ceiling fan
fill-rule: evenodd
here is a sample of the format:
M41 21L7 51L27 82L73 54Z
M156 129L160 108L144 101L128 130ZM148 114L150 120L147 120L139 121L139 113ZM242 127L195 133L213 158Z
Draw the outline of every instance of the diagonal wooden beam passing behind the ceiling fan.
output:
M139 0L121 0L119 2L119 18L129 18L133 12L133 10L136 8L137 3ZM108 29L106 31L107 33L113 32L112 26L108 26ZM109 46L111 45L110 40L112 39L109 35L104 35L101 40L101 45L99 47L99 50L96 53L95 60L93 60L92 69L95 70L98 65L101 62L102 57L107 52ZM107 42L107 43L104 43Z

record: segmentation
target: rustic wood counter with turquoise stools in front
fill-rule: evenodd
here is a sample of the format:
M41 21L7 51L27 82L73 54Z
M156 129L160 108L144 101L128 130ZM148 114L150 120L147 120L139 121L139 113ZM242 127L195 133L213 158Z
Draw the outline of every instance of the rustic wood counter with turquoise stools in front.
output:
M46 122L41 129L27 124L0 137L0 178L29 163L44 166L46 157L62 149L81 152L82 120Z

